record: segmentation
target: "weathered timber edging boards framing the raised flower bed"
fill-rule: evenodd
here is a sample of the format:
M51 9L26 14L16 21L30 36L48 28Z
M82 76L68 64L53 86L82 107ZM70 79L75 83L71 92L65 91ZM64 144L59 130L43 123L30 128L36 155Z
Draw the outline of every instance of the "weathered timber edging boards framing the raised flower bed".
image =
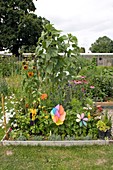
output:
M97 102L96 105L101 105L103 108L113 107L113 102ZM62 140L62 141L19 141L7 140L6 135L0 142L0 145L31 145L31 146L73 146L73 145L109 145L113 140Z

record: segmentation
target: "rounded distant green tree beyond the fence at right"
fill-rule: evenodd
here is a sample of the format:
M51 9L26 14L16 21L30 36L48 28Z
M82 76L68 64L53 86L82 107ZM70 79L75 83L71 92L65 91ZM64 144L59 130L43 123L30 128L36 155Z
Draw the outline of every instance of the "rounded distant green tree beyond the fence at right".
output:
M93 53L112 53L113 41L107 36L99 37L96 42L91 44L89 50Z

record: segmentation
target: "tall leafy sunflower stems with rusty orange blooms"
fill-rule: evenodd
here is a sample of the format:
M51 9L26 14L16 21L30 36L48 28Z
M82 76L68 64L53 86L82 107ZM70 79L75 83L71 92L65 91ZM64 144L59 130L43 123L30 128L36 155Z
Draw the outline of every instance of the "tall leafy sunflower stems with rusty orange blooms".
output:
M33 107L37 105L41 95L38 70L35 62L23 62L23 92L26 104ZM34 106L36 108L36 106Z

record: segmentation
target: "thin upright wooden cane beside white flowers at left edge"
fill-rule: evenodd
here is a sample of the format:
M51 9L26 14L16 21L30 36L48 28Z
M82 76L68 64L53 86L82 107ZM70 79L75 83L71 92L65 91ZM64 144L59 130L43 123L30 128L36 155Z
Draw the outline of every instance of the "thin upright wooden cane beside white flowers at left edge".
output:
M7 139L8 135L7 135L6 113L5 113L5 108L4 108L4 95L3 94L1 95L1 98L2 98L2 111L3 111L3 118L4 118L5 136L6 136L6 139Z

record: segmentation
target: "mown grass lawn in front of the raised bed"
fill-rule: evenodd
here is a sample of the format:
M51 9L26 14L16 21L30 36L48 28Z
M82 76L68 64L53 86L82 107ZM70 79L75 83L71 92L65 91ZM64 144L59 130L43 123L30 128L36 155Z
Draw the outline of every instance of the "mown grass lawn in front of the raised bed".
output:
M0 170L112 170L113 145L0 146Z

